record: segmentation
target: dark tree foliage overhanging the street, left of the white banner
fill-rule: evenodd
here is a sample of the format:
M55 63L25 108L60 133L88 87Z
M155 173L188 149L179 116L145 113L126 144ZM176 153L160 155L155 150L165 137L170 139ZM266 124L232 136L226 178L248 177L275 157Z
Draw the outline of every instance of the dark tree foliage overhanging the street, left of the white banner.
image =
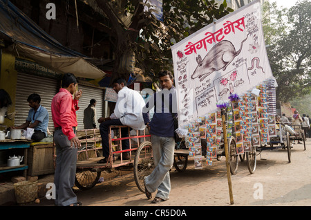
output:
M123 2L122 7L120 2ZM113 4L111 10L115 12L105 11L107 3ZM111 21L126 21L124 15L131 18L131 24L128 26L125 22L120 22L120 26L126 29L124 33L120 33L121 28L115 31L115 33L119 31L116 37L115 56L118 57L131 48L136 55L136 66L154 79L156 79L154 73L158 73L160 69L172 70L171 46L174 43L211 24L214 19L220 19L233 11L227 8L226 0L220 6L214 0L166 0L162 5L162 21L159 21L151 13L154 8L147 1L97 0L97 4L102 5L100 8L107 15L117 17L117 19L110 17ZM147 7L149 10L141 10L140 6ZM135 24L135 21L138 22ZM116 28L118 24L114 22L113 26ZM124 39L127 40L126 44Z

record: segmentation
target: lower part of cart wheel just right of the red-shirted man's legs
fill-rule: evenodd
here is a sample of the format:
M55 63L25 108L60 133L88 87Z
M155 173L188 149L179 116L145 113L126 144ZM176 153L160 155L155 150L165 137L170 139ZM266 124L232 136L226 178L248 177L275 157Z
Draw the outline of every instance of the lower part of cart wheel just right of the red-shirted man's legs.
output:
M91 170L77 170L75 173L75 185L80 190L90 190L93 188L102 172L91 172Z

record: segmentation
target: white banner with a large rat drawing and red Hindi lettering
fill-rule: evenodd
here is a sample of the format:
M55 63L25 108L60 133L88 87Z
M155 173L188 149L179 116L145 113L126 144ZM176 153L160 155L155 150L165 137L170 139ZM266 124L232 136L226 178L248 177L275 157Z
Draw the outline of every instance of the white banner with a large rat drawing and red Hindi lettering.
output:
M265 50L261 5L247 6L172 46L179 125L217 109L273 77Z

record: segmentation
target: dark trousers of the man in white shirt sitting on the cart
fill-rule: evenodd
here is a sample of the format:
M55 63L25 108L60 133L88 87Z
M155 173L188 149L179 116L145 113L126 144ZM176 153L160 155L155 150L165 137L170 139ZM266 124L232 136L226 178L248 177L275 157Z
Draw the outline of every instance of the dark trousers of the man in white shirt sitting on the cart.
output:
M109 127L111 125L122 125L120 119L106 120L100 124L100 136L102 136L102 156L109 157ZM129 137L129 128L121 129L122 138ZM118 140L119 141L119 140ZM129 139L122 140L122 150L129 149Z

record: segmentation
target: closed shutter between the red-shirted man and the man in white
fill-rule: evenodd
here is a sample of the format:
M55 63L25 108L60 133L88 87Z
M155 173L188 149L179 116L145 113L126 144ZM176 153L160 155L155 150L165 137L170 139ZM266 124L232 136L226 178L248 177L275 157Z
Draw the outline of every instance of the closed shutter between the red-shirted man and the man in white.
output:
M83 94L82 97L79 100L79 111L77 111L77 122L78 122L78 127L77 129L84 129L84 124L83 124L83 114L84 114L84 109L88 107L88 104L90 104L91 99L95 99L97 101L96 104L96 120L98 118L104 116L104 90L103 89L97 89L94 87L90 86L84 86L82 84L79 84L79 89L82 89ZM99 127L98 122L97 122L97 128Z

